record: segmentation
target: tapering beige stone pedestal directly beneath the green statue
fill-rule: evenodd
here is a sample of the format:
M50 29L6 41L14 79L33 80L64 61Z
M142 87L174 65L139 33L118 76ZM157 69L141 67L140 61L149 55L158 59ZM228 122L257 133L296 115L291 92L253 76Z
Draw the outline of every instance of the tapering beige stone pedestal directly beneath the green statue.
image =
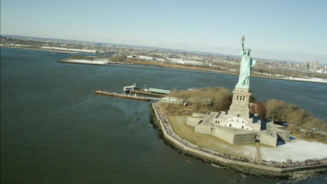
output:
M251 96L250 89L236 87L233 90L233 100L228 110L228 115L235 117L250 117L249 101Z

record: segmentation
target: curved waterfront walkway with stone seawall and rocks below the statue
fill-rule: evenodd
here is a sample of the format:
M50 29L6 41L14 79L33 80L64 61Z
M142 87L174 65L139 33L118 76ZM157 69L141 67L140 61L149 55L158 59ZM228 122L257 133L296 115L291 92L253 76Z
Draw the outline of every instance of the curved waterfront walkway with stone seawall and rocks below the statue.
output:
M184 154L191 158L201 160L219 166L223 169L242 173L245 175L259 176L269 179L299 179L310 176L319 176L327 174L327 164L320 163L315 165L302 165L297 167L277 168L274 165L254 162L243 157L233 157L222 153L207 150L185 141L179 135L175 134L172 127L156 103L150 105L151 124L158 130L159 139L163 140L169 147L179 154ZM320 164L319 164L320 163Z

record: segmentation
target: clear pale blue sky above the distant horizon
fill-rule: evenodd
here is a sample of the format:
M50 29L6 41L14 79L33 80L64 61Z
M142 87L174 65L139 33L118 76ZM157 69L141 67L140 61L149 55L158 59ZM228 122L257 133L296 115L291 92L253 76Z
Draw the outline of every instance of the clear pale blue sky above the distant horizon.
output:
M1 34L327 65L326 0L1 0Z

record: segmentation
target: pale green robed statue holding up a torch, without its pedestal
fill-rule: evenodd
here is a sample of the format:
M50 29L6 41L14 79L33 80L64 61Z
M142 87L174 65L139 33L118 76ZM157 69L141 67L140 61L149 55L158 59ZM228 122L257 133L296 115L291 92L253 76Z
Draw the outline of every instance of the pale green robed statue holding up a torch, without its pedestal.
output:
M244 51L244 36L242 37L242 51L241 51L241 67L240 67L240 77L239 82L236 87L240 88L250 88L250 77L251 69L255 65L256 61L252 60L250 56L250 49Z

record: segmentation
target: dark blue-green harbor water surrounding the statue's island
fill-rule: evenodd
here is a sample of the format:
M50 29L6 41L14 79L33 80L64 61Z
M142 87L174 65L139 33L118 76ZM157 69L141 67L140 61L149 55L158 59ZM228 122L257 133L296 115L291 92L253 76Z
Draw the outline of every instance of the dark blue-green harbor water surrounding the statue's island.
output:
M101 88L123 93L134 82L166 90L233 89L238 76L56 62L71 55L77 54L1 48L1 183L279 182L174 152L150 125L154 101L92 94ZM327 84L252 78L250 85L258 100L283 100L327 120Z

